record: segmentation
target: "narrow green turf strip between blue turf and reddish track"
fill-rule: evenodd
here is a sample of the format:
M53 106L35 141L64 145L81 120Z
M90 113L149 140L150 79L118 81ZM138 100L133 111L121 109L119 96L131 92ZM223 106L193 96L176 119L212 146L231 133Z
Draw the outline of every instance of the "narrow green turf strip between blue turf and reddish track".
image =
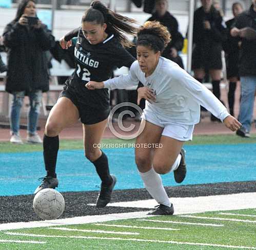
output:
M121 139L104 139L102 143L134 143L135 140L121 140ZM256 134L251 134L251 138L241 138L236 135L195 135L192 142L187 142L186 145L203 145L203 144L238 144L238 143L255 143ZM61 140L60 149L83 149L82 140ZM32 151L43 151L43 145L37 144L23 144L17 145L9 142L0 143L0 153L7 152L32 152Z

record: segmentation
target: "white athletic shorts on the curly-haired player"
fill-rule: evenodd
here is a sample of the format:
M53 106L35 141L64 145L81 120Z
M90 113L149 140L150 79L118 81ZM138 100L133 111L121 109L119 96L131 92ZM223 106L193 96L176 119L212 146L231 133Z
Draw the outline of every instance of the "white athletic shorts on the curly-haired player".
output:
M162 135L176 139L178 141L191 141L193 137L194 125L184 125L163 121L149 109L144 109L146 121L164 128ZM142 117L143 118L143 117Z

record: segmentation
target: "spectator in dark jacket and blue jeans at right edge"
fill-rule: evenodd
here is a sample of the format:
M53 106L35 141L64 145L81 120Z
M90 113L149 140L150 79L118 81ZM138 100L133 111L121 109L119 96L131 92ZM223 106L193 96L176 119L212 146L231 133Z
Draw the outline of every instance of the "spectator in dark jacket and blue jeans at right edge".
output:
M239 121L243 126L237 131L237 135L250 137L256 89L256 0L252 0L249 10L237 17L230 34L233 37L240 37L242 39L239 63L239 74L241 77Z

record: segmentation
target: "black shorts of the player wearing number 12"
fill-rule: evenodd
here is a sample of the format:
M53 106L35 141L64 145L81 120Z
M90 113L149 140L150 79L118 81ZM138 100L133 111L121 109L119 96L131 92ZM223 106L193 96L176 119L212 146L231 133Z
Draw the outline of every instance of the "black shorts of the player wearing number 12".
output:
M81 122L86 125L99 123L108 118L110 106L106 109L95 109L78 100L75 89L72 86L65 87L59 98L66 97L77 107Z

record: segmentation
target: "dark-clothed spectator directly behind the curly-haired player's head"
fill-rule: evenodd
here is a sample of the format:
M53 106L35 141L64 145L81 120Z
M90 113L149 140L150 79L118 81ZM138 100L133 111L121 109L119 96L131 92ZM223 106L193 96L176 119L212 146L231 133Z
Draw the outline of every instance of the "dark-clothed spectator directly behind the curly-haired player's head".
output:
M171 41L165 48L162 56L178 63L182 69L184 69L182 58L179 56L179 52L183 48L184 38L179 32L179 24L176 18L168 11L167 0L155 1L155 12L148 19L148 21L159 21L160 24L167 27L171 34Z

